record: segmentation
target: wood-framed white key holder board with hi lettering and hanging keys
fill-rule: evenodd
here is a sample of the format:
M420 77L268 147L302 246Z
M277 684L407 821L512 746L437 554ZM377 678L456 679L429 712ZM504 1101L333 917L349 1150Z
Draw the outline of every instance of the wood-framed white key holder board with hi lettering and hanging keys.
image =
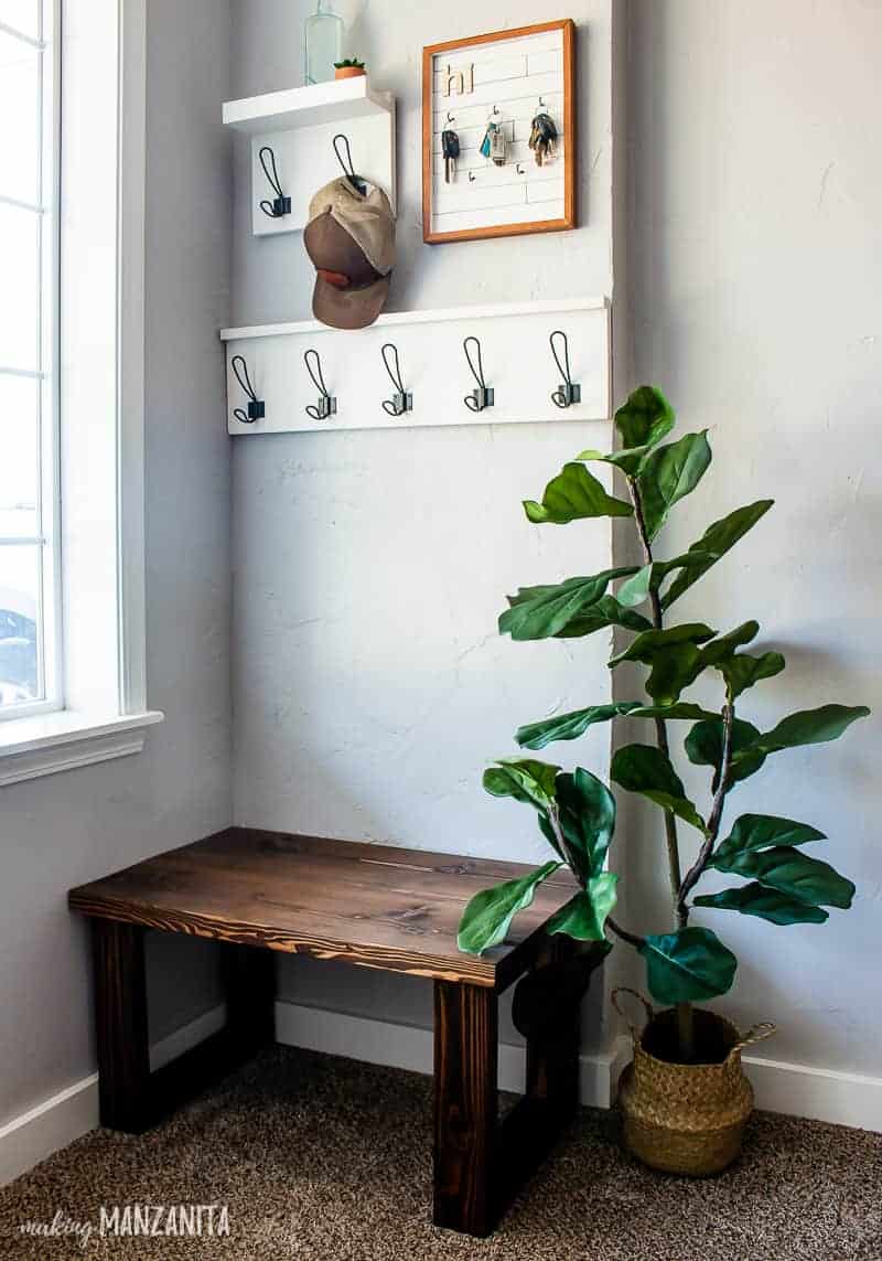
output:
M576 227L575 35L566 18L423 48L428 245ZM542 116L551 125L530 148ZM452 163L444 139L451 131Z

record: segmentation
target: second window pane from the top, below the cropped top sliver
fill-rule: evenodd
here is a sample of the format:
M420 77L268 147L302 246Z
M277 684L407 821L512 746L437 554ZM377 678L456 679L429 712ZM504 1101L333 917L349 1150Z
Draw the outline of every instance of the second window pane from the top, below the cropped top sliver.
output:
M30 203L39 200L39 55L0 30L0 194Z

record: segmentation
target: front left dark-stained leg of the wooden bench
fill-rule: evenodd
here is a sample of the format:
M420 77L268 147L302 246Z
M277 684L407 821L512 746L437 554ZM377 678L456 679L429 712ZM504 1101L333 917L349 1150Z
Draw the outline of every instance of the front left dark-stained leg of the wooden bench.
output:
M144 928L92 921L101 1124L127 1134L150 1125L150 1053Z

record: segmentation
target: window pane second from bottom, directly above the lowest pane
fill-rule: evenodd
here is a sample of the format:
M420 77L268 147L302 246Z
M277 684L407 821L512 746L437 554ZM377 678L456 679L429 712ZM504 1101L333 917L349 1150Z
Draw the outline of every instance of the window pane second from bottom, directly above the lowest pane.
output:
M39 382L0 373L0 538L39 528Z

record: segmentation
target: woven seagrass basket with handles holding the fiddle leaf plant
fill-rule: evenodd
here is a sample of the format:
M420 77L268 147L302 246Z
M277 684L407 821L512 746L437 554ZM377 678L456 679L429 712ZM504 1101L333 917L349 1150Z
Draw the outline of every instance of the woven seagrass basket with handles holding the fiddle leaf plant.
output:
M612 1002L624 1015L617 996L631 994L644 1005L646 1024L629 1025L634 1061L619 1082L624 1115L624 1141L644 1164L672 1174L707 1178L730 1165L741 1151L745 1122L753 1107L753 1092L741 1067L741 1052L775 1033L759 1024L740 1034L723 1016L693 1009L698 1062L678 1064L677 1010L658 1014L634 990L614 990Z

